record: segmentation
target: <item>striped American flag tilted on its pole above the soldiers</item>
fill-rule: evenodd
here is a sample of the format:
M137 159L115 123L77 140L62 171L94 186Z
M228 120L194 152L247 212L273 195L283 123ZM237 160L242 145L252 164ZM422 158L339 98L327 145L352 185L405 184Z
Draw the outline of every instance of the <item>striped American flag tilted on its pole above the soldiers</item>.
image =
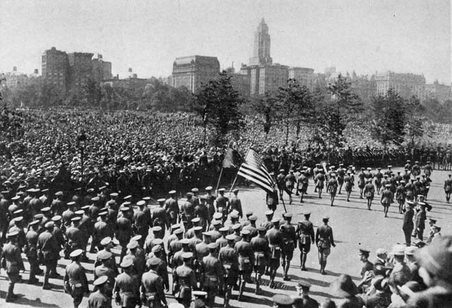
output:
M273 192L275 188L273 178L268 174L262 158L254 149L249 149L244 163L238 169L238 175L252 181L267 192Z

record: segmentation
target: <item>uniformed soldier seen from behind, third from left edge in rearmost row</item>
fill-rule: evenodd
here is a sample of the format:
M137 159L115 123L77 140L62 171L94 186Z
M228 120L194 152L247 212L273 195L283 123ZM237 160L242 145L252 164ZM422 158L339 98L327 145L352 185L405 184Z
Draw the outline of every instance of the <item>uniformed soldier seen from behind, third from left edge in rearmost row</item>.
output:
M38 237L38 244L36 248L38 249L38 257L42 259L42 263L45 265L44 274L44 284L42 285L42 290L50 290L49 277L51 270L56 267L58 263L57 252L60 251L58 248L58 242L55 236L52 234L53 231L53 221L49 221L45 224L45 231L42 232Z

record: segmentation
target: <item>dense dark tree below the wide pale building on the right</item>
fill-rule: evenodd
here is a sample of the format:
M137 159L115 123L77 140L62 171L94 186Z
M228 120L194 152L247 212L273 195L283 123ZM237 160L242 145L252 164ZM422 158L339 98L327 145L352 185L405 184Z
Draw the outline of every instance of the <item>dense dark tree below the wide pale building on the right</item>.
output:
M407 103L397 92L390 89L385 95L372 101L375 116L373 136L385 146L390 142L401 144L407 123Z

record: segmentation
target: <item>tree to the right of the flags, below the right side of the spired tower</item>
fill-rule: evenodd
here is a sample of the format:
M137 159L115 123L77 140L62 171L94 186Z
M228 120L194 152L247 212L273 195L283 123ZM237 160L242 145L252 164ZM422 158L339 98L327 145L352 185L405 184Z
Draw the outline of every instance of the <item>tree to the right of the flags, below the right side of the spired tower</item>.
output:
M277 94L279 117L286 126L286 144L288 144L290 123L297 127L297 138L301 123L309 120L313 115L312 97L309 89L295 79L289 79L286 87L279 87Z

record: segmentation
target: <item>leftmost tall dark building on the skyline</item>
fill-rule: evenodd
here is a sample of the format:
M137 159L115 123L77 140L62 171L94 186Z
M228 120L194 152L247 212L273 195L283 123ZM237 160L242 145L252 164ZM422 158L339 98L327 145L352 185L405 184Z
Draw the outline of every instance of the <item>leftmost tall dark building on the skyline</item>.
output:
M42 53L42 78L55 84L63 92L67 90L70 81L68 55L52 47Z

